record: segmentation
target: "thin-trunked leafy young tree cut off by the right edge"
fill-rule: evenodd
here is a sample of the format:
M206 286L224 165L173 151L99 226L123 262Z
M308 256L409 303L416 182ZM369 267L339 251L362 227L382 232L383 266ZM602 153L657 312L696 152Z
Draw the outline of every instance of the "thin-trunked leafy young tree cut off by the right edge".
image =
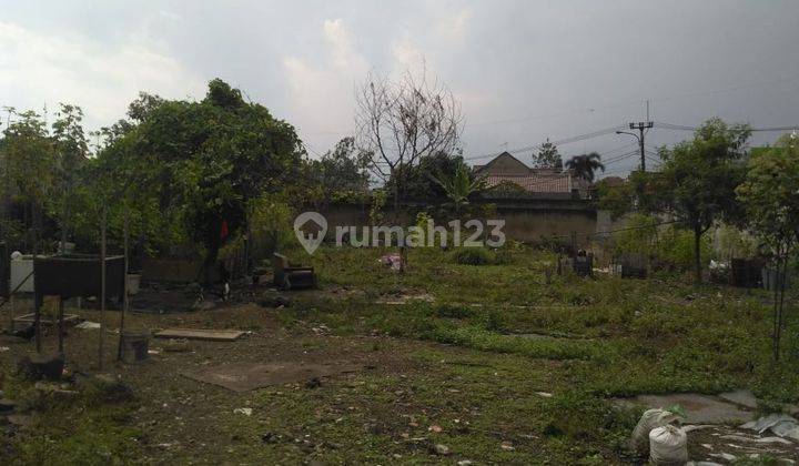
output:
M749 226L769 249L780 277L773 297L773 357L779 358L783 314L785 277L789 259L799 246L799 140L782 136L777 146L754 155L746 181L736 190Z

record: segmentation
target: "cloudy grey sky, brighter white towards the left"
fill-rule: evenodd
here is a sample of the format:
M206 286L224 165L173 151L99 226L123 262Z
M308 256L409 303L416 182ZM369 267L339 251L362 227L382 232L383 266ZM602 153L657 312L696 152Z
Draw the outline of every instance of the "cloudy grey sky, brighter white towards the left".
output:
M797 20L796 0L2 0L0 105L52 119L74 103L94 130L139 91L202 99L221 78L294 124L317 158L353 133L367 73L424 69L462 105L471 163L506 149L530 163L547 138L646 120L647 101L656 122L799 126ZM657 146L686 138L656 125L649 166ZM635 143L609 132L559 151L599 152L607 175L624 175Z

